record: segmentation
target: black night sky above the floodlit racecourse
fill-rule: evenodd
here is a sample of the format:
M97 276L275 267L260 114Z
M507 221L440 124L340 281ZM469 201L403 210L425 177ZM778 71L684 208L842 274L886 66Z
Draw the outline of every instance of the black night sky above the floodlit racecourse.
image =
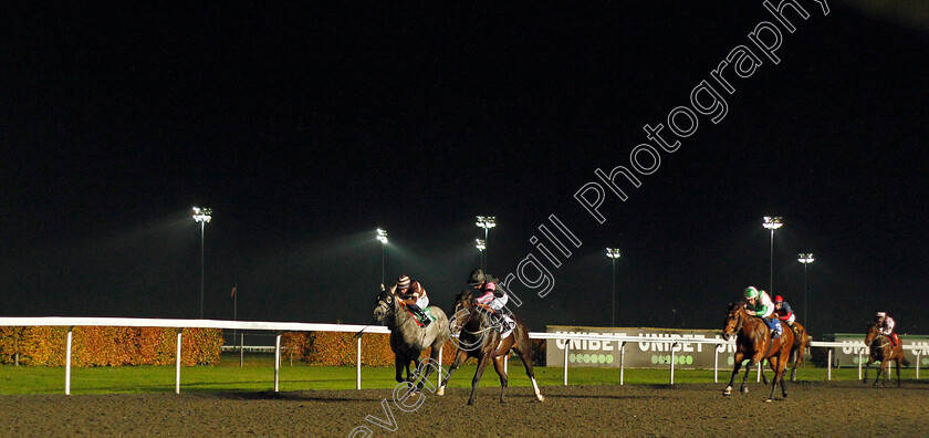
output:
M761 1L4 11L0 314L198 317L205 206L208 319L232 319L238 284L239 320L368 323L378 227L388 282L447 310L489 215L488 271L532 254L554 281L509 283L533 330L609 325L606 247L618 326L721 328L743 288L769 288L762 217L783 216L774 293L803 321L813 252L814 335L878 310L929 334L929 8L800 3L794 33ZM777 64L749 38L762 21ZM712 71L739 45L761 64L730 65L730 94ZM676 137L668 114L701 81L727 112ZM646 137L659 123L676 152ZM628 199L606 189L598 223L575 194L639 144L660 164L637 155L657 169L619 176ZM564 239L550 215L571 257L539 231Z

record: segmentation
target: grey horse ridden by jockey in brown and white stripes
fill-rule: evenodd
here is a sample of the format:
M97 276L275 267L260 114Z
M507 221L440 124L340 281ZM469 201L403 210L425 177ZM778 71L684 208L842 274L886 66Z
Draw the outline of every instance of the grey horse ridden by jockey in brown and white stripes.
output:
M414 383L409 372L409 363L415 364L414 369L419 369L420 354L424 350L431 347L429 357L432 361L441 361L439 350L448 341L448 316L434 305L429 311L436 316L436 321L426 327L420 327L413 317L413 314L404 309L403 303L397 299L395 289L384 290L377 295L374 307L374 319L390 327L390 350L394 352L394 363L397 368L397 382ZM403 371L406 368L406 379L403 378ZM425 376L418 387L422 388L422 382L432 373L431 366L427 367Z

